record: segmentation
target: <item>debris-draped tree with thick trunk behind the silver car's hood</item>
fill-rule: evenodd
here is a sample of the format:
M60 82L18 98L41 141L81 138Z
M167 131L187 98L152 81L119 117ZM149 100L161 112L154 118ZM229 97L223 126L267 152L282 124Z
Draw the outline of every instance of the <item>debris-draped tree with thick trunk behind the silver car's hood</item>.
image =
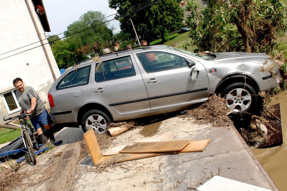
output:
M191 30L196 51L269 52L286 32L286 11L279 0L207 0L204 19Z

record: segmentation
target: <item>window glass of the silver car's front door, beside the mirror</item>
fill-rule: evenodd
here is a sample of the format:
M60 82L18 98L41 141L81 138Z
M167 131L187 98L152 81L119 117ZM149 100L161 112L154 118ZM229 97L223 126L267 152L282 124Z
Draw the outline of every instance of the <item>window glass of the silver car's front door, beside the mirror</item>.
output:
M147 73L188 66L186 60L183 57L167 52L154 51L138 53L137 58Z

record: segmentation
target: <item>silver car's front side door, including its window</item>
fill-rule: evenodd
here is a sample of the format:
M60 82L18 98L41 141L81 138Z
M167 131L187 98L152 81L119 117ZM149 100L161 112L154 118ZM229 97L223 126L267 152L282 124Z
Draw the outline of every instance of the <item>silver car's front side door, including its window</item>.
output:
M149 54L156 60L150 62ZM191 58L166 51L138 53L141 74L144 79L151 111L189 105L206 101L209 82L204 66ZM192 67L187 59L195 63L198 76L191 81Z

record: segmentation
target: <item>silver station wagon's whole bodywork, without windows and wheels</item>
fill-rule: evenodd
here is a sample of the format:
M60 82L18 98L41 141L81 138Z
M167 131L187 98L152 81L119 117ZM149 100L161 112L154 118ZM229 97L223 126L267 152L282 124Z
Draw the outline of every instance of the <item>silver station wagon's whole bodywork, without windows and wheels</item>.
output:
M137 54L141 52L169 52L195 63L171 70L148 73L144 70ZM66 71L51 86L55 107L51 107L51 117L55 123L78 123L79 110L87 104L105 107L114 121L146 117L177 111L188 105L204 102L214 94L218 84L232 75L246 75L252 78L259 90L272 88L279 83L279 69L266 54L255 53L212 53L216 58L202 59L200 55L185 54L158 45L143 49L123 51L100 57L100 61L130 56L135 75L103 82L95 81L96 64L92 59L80 63ZM264 66L264 67L263 67ZM70 71L91 67L86 85L57 89L57 84ZM199 71L196 80L191 81L191 70ZM99 91L100 90L100 91ZM94 108L97 109L97 108ZM82 114L81 114L82 115Z

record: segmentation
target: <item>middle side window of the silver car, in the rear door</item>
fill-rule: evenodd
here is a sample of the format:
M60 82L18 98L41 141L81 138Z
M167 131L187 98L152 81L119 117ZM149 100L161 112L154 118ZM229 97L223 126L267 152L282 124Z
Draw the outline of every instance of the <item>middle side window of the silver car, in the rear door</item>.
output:
M96 64L95 81L103 82L135 76L130 56L99 62Z

